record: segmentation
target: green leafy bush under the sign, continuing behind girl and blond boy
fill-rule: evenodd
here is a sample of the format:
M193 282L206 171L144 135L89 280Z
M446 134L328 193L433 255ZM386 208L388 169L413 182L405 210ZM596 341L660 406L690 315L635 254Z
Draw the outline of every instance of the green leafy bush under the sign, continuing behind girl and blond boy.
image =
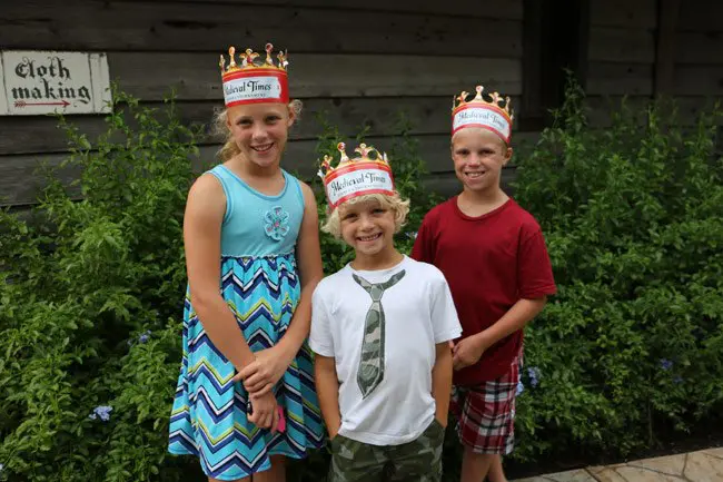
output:
M63 167L81 173L70 194L50 178L30 222L0 210L0 480L204 480L197 460L166 453L181 360L181 224L200 132L179 124L172 100L155 111L113 99L93 142L61 120ZM397 186L420 198L424 165L408 122L399 129L389 151ZM326 130L319 153L341 140ZM404 250L427 199L398 236ZM330 273L350 252L321 239ZM293 463L291 480L326 470L319 451Z

